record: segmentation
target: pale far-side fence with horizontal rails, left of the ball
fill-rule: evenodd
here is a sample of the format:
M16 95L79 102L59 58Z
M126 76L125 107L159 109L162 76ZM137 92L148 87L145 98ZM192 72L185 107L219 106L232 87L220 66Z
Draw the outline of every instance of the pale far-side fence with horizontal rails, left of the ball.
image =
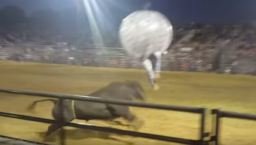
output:
M2 45L0 60L58 63L82 66L142 68L123 48L58 45Z

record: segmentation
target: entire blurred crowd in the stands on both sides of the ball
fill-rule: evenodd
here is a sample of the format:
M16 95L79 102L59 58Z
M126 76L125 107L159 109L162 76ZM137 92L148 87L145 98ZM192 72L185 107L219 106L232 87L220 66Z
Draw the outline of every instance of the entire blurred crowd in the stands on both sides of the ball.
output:
M243 74L256 72L256 29L252 25L191 24L174 27L174 33L170 53L163 56L164 70ZM0 59L141 67L136 59L119 48L119 42L112 44L114 48L95 48L88 35L0 33Z

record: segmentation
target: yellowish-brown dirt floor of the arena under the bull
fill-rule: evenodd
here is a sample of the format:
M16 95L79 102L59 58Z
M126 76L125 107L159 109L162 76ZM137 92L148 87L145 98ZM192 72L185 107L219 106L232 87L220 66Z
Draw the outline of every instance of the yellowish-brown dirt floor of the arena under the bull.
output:
M217 75L208 73L163 72L159 80L160 90L153 91L144 70L121 68L97 68L57 64L0 61L0 88L33 90L52 93L86 95L112 81L140 81L147 93L148 102L181 106L209 106L226 111L256 114L256 77L245 75ZM35 112L26 107L42 97L0 93L0 111L52 118L51 102L37 105ZM175 111L131 108L145 120L140 132L188 139L199 138L200 115ZM207 131L210 131L210 120ZM74 120L74 122L84 122ZM115 127L102 121L90 121L93 125ZM0 117L0 134L59 144L58 131L51 140L43 141L48 124ZM157 140L119 136L85 129L67 129L68 145L177 145ZM256 122L237 119L221 120L221 144L255 145ZM114 139L109 139L115 138Z

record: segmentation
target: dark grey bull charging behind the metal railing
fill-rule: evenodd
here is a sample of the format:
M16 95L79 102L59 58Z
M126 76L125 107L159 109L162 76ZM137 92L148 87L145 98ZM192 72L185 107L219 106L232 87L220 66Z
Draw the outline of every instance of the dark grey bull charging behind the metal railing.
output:
M109 85L95 91L88 96L101 97L106 99L118 100L145 100L145 94L142 86L138 82L112 82ZM60 100L45 99L33 102L28 107L28 110L33 110L37 102L52 101L54 107L52 109L52 116L55 120L61 120ZM71 122L74 119L79 120L108 120L112 122L116 118L123 118L130 122L130 127L139 129L143 121L138 119L130 112L129 106L103 104L95 102L85 102L77 100L63 100L63 114L64 121ZM118 123L118 122L116 122ZM121 125L121 123L119 122ZM50 136L51 133L61 128L61 125L50 125L48 127L45 137Z

